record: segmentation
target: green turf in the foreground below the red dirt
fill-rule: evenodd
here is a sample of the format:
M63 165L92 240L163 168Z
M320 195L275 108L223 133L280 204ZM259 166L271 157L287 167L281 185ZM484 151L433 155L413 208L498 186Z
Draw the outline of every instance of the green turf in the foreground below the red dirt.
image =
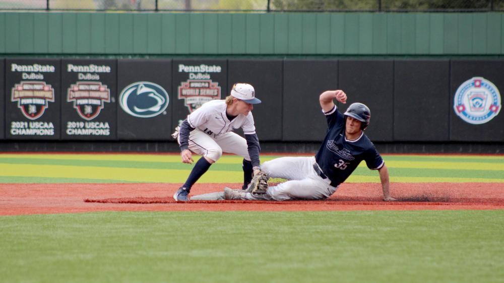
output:
M504 210L0 217L2 281L502 282Z

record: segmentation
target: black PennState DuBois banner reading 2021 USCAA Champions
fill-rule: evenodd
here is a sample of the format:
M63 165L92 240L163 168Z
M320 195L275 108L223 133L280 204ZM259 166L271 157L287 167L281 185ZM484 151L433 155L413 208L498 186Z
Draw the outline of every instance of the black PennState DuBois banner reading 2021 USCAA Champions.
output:
M60 131L60 60L6 60L6 137L56 140Z

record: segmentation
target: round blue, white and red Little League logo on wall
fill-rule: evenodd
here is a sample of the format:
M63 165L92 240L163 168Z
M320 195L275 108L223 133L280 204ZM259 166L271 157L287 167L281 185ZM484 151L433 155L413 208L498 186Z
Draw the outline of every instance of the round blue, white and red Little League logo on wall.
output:
M455 92L453 109L467 123L484 124L497 116L500 108L499 90L483 77L464 81Z

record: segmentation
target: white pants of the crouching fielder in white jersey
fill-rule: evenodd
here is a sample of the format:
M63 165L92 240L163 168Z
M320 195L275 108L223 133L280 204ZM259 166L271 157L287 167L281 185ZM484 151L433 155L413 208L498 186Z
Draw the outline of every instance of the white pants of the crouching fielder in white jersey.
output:
M177 139L179 138L180 136ZM180 140L178 140L178 143L180 143ZM214 136L195 129L189 135L189 150L206 156L214 162L219 160L223 152L243 156L245 160L250 161L247 141L233 132Z

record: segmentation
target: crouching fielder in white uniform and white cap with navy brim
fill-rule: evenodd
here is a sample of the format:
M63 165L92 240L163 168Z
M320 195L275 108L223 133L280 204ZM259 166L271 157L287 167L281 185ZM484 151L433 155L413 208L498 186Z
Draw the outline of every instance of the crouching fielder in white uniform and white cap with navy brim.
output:
M225 100L213 100L187 116L173 137L180 145L183 163L194 162L192 152L203 155L196 162L185 183L173 195L175 201L189 201L193 184L219 160L223 152L243 156L243 189L259 170L259 139L256 135L252 111L256 98L254 87L248 83L233 85L231 95ZM243 129L245 138L231 131Z

